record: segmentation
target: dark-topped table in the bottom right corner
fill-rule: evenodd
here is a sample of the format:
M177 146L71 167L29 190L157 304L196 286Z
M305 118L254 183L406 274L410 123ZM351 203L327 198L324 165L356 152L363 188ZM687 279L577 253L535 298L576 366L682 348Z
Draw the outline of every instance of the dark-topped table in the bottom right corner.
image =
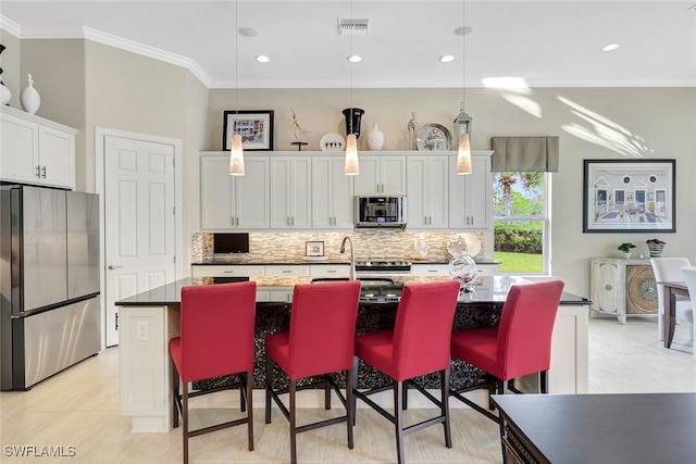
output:
M696 393L492 398L505 464L696 462Z

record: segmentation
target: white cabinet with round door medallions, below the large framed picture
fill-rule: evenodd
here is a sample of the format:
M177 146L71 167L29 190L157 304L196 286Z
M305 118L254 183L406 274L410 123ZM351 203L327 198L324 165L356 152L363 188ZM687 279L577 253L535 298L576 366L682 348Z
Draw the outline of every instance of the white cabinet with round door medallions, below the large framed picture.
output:
M593 258L589 260L591 316L616 314L621 324L626 315L657 315L657 285L650 260Z

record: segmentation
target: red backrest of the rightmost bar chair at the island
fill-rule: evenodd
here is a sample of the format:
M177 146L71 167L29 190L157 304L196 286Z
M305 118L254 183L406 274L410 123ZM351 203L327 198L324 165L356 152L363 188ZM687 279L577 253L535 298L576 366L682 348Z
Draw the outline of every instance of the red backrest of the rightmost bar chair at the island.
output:
M548 371L561 280L512 286L502 306L497 359L502 379Z

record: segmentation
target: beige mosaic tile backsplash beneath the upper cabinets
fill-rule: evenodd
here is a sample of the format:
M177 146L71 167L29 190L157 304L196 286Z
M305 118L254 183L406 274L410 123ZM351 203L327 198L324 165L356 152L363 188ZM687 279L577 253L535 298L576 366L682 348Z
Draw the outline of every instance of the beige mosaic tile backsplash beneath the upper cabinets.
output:
M330 260L340 261L340 242L350 236L356 247L356 259L400 259L415 258L415 242L427 247L427 256L433 261L447 261L447 241L458 235L453 231L408 231L365 229L349 233L302 231L302 233L249 233L249 254L251 260L300 260L304 258L304 242L323 241L324 254ZM482 233L467 233L469 237L483 241ZM482 247L483 250L483 247ZM474 258L483 258L483 251ZM213 259L213 234L200 233L191 237L191 262L202 263Z

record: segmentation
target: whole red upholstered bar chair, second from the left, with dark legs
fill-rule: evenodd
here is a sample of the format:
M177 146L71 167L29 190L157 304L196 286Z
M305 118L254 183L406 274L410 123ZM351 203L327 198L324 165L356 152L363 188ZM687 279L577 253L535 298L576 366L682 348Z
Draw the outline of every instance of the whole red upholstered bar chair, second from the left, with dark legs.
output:
M297 462L297 434L345 422L348 448L352 449L351 400L353 340L360 281L296 285L290 309L290 329L265 338L265 423L271 423L271 400L290 423L290 462ZM273 368L277 364L288 377L288 388L273 389ZM346 397L330 374L346 371ZM322 376L325 407L331 409L331 387L346 406L346 415L297 426L296 392L318 383L297 386L297 380ZM290 409L279 394L289 393Z

